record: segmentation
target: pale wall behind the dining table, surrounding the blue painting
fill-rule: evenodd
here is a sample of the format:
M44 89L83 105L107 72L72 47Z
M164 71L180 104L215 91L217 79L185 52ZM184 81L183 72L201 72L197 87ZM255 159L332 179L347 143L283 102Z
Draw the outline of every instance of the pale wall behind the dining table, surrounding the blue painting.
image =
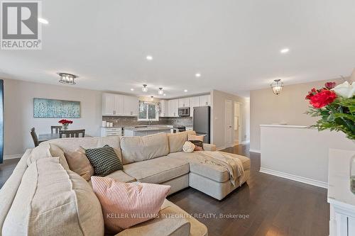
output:
M73 129L84 128L99 136L102 124L102 92L4 79L4 155L22 154L33 147L30 129L50 133L59 118L33 118L33 98L80 101L81 118L70 119Z

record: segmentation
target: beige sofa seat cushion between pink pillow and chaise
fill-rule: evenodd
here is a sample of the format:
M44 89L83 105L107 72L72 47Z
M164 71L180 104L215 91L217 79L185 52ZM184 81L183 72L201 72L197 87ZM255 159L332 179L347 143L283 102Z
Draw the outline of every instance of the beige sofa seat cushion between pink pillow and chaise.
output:
M189 163L183 159L158 157L144 162L126 164L124 172L143 183L160 184L189 173Z

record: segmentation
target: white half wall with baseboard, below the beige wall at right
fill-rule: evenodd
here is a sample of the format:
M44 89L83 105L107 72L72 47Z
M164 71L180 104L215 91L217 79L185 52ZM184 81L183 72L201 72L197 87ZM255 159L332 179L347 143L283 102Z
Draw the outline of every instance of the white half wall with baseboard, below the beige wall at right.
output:
M344 133L262 125L261 172L326 187L331 148L355 151Z

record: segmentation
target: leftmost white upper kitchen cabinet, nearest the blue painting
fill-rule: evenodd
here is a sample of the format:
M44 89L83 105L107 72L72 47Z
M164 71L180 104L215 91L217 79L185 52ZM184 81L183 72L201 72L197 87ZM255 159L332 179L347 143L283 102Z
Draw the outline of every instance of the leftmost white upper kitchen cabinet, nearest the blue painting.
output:
M120 94L102 94L102 115L122 116L124 114L124 96Z

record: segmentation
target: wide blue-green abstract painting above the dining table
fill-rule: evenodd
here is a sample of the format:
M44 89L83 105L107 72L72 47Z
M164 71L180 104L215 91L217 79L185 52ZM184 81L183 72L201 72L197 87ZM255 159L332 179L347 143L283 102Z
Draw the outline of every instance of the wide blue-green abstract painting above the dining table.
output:
M80 101L33 99L34 118L80 118Z

